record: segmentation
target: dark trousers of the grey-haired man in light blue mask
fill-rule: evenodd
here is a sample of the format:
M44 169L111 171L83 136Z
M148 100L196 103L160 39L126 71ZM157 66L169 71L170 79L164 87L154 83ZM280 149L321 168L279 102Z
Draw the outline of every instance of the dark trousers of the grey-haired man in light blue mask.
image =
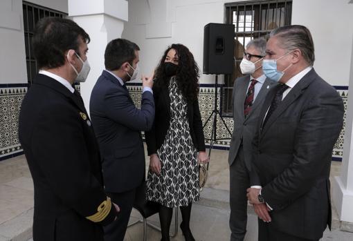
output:
M296 237L288 233L282 233L281 231L274 229L271 222L266 223L260 219L257 220L259 224L259 241L318 241Z

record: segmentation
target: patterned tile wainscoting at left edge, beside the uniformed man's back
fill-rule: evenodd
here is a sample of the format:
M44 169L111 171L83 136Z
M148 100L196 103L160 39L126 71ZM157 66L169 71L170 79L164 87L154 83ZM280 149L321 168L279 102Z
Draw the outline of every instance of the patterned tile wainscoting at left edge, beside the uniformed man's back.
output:
M19 109L27 84L0 84L0 160L21 155Z

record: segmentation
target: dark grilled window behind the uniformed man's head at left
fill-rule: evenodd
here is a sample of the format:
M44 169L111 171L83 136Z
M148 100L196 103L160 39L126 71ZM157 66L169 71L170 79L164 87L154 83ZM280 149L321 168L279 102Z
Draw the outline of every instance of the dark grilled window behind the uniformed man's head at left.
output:
M38 73L37 61L33 56L32 37L33 29L39 19L44 17L66 17L67 14L50 8L44 8L33 3L23 1L24 10L24 44L26 46L26 64L28 86L32 84L33 77Z

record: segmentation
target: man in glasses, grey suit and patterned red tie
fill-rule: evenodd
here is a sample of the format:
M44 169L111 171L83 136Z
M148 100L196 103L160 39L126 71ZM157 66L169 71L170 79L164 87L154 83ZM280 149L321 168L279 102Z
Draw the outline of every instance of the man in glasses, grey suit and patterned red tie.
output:
M264 97L275 84L262 73L265 50L265 39L253 39L247 44L240 64L245 76L237 78L233 88L234 128L228 156L231 241L244 240L246 233L248 206L246 189L250 187L249 173L253 151L251 142Z

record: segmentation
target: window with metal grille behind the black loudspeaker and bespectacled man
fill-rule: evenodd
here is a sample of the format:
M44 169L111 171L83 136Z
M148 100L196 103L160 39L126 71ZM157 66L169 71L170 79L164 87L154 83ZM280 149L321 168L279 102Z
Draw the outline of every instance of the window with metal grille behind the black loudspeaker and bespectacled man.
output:
M274 28L291 25L291 0L242 1L226 3L226 23L235 25L234 69L232 75L224 76L223 115L232 115L233 85L242 76L239 65L244 49L251 39L267 39Z

